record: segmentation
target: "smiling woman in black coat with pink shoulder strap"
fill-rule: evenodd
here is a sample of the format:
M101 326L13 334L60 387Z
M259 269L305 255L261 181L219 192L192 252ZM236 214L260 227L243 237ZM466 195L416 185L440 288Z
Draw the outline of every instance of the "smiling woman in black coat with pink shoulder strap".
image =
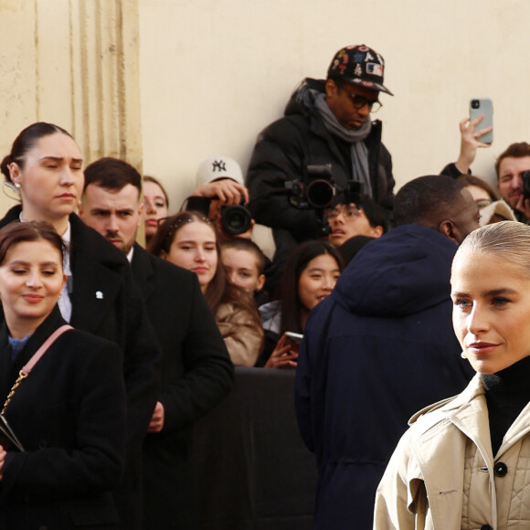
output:
M0 401L24 450L0 446L1 528L119 527L111 496L125 452L118 347L69 328L26 368L65 324L62 263L62 239L48 224L0 230ZM29 373L13 390L21 369Z

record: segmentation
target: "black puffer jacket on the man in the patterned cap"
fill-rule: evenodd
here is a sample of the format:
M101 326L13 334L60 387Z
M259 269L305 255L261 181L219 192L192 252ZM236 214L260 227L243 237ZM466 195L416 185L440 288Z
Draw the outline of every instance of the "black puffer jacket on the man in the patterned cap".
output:
M287 231L294 241L314 238L316 216L313 210L293 207L285 182L302 179L308 164L333 164L335 184L344 187L352 179L349 144L332 136L314 108L314 92L324 91L324 80L305 79L294 91L285 109L285 117L260 132L252 154L247 185L249 208L257 222L279 235ZM392 209L394 177L392 159L381 143L381 122L373 122L366 138L370 178L374 199Z

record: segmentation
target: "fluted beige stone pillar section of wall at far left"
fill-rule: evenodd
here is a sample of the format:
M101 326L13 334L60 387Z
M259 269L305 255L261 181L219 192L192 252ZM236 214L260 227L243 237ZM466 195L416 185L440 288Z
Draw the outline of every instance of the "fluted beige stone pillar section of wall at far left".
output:
M32 122L141 168L137 0L0 0L0 153ZM5 211L13 201L2 195Z

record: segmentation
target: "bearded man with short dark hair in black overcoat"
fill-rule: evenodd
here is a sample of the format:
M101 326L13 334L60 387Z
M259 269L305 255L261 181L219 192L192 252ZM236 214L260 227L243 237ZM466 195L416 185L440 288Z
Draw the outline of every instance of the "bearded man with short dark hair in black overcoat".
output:
M143 528L196 528L187 428L232 386L233 366L193 272L135 243L142 178L121 160L85 169L80 217L128 257L161 345L162 386L143 446Z

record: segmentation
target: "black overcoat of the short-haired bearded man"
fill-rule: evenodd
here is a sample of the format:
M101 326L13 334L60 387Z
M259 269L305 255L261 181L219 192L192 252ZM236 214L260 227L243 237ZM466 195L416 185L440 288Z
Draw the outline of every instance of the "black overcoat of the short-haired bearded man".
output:
M228 394L234 367L195 273L135 245L132 274L162 348L164 429L148 434L143 445L143 528L193 528L186 428Z

